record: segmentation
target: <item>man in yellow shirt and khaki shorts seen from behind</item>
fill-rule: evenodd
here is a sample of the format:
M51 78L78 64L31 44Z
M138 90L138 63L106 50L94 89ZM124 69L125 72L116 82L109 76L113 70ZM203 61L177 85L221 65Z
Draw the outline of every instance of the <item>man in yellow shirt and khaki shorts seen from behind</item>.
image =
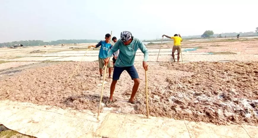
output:
M179 36L178 36L179 35ZM181 35L180 34L175 34L174 37L170 37L170 36L167 36L167 35L163 35L162 37L167 37L167 38L171 38L174 40L174 46L172 48L172 57L173 57L173 60L174 62L176 62L175 60L175 51L177 50L177 62L179 62L179 58L180 58L180 51L181 51L181 42L183 41L182 38L181 38Z

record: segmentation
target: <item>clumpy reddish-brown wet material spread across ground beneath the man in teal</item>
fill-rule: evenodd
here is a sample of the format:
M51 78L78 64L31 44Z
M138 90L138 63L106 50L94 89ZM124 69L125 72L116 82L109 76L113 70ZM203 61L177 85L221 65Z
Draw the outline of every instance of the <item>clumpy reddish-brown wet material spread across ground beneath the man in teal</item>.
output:
M101 80L98 63L64 62L24 70L0 81L0 99L89 109L97 112ZM128 103L133 82L122 73L112 107L124 113L145 114L144 70L135 64L141 78L136 105ZM258 62L252 63L149 63L149 109L151 116L165 116L214 124L258 124ZM109 96L106 80L103 102ZM128 108L125 108L128 107Z

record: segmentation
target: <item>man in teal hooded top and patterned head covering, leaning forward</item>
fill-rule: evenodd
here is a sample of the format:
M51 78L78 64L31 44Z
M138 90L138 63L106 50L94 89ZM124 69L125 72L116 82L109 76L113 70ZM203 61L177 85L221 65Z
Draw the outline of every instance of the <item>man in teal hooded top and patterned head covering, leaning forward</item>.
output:
M135 60L135 55L138 48L141 50L141 52L144 53L144 60L142 62L143 68L144 70L148 70L147 60L149 57L149 52L146 49L143 42L141 42L141 40L139 40L138 38L134 38L131 32L128 32L128 31L121 32L120 38L121 39L119 39L115 43L115 45L109 51L107 58L104 60L106 65L107 63L109 63L109 59L112 56L112 54L117 50L120 50L119 56L117 57L117 61L114 67L113 80L110 86L110 97L109 97L109 100L106 102L106 106L110 106L110 104L112 103L113 93L115 90L117 80L119 80L120 75L124 70L128 72L131 79L134 81L133 91L129 99L129 102L132 104L136 104L136 101L134 100L134 96L138 90L140 79L134 67L134 60Z

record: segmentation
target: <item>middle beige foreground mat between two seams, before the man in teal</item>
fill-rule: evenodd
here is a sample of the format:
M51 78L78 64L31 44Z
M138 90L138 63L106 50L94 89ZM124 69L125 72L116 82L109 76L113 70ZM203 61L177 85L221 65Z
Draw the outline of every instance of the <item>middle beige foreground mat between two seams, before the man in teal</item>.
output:
M115 124L114 124L115 122ZM177 125L175 125L177 124ZM160 118L146 119L136 115L110 113L94 136L122 137L189 137L184 121L164 121Z

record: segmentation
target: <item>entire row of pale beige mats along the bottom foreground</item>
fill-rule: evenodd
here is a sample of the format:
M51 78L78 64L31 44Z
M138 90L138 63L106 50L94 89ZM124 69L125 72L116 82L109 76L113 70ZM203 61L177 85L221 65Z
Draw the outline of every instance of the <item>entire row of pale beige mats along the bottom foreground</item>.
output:
M255 126L217 126L140 115L121 115L108 111L64 110L31 103L0 101L0 124L22 134L48 137L258 137Z

